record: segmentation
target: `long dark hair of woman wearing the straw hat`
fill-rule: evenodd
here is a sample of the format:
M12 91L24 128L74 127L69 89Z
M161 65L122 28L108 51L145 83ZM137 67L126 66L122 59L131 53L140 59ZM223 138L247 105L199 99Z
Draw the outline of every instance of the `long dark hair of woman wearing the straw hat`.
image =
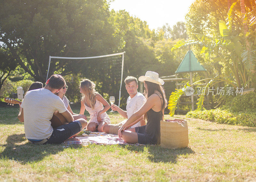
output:
M162 95L162 98L163 98L161 111L164 110L164 108L167 106L167 100L165 97L164 87L162 85L159 85L156 83L152 83L152 82L148 82L148 81L144 81L144 82L147 85L147 88L144 91L144 95L145 95L146 99L148 99L152 94L154 94L155 91L158 91ZM144 117L144 119L148 119L147 113L145 113L143 117Z

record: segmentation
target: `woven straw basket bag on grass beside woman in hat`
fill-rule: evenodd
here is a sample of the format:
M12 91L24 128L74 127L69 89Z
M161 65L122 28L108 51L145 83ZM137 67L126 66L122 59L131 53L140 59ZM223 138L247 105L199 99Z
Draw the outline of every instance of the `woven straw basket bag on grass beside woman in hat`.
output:
M183 148L188 146L188 123L184 119L160 121L161 146Z

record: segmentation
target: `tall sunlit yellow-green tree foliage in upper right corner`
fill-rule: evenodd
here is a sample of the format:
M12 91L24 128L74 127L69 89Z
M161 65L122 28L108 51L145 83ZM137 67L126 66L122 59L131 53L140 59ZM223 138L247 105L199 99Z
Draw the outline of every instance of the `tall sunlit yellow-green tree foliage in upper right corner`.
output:
M201 58L201 61L221 66L219 69L221 72L213 73L214 76L229 78L234 80L238 87L250 88L255 82L251 79L251 76L255 75L252 72L255 66L255 42L250 36L252 37L255 33L253 34L252 25L249 26L250 31L247 31L249 24L246 22L247 16L244 12L241 13L241 7L244 4L238 5L238 1L230 2L233 5L229 10L228 2L218 0L198 0L192 4L186 17L187 27L190 38L199 42L190 41L189 44L196 44L194 48L197 56L204 53L205 58ZM245 4L247 13L255 7L255 2L252 0L246 1ZM220 7L219 12L216 12L217 6ZM193 25L193 23L196 23L200 17L202 21L199 23L202 26L197 28L198 24Z

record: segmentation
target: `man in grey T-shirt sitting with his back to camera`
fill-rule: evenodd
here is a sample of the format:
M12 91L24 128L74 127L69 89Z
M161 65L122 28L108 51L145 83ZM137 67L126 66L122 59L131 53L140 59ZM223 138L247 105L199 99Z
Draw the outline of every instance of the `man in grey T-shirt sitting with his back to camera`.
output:
M62 143L86 127L86 120L74 121L63 101L54 94L65 85L66 82L61 75L52 75L44 88L28 91L25 95L18 119L24 122L25 137L30 143ZM50 120L55 111L59 111L67 119L68 124L53 129Z

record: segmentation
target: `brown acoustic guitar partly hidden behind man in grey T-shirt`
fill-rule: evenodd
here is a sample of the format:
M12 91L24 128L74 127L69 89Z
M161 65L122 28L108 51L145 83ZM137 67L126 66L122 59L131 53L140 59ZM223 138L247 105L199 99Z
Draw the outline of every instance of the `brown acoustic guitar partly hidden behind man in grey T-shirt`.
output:
M14 105L14 104L21 104L21 102L19 100L15 100L15 99L11 99L11 98L4 98L4 102L7 102L10 105ZM59 113L59 111L55 111L53 113L52 119L50 120L52 128L57 128L63 124L68 124L68 121L66 120L66 118Z

